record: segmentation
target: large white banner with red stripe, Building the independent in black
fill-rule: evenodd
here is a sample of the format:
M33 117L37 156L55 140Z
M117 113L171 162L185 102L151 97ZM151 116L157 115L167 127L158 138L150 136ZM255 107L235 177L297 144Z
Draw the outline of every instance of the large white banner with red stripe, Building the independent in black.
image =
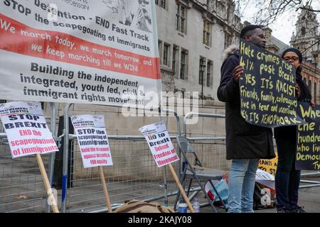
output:
M0 99L157 106L155 15L154 0L1 0Z

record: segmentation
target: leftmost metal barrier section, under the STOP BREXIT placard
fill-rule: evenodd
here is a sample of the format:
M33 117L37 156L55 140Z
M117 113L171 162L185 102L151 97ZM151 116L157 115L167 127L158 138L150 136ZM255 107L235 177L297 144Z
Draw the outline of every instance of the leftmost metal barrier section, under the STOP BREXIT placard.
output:
M42 155L46 170L49 156ZM12 159L6 135L1 133L0 144L0 213L44 212L47 193L36 157Z

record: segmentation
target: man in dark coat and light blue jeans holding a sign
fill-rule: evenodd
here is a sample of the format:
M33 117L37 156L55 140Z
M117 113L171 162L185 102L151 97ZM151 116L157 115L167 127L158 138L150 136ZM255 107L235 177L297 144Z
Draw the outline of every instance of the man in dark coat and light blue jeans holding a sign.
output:
M246 26L240 38L265 48L265 35L260 26ZM241 116L239 79L243 67L239 64L238 49L228 52L221 66L218 99L225 102L227 159L232 160L228 180L228 212L252 213L255 172L259 159L270 159L275 155L271 128L251 125Z

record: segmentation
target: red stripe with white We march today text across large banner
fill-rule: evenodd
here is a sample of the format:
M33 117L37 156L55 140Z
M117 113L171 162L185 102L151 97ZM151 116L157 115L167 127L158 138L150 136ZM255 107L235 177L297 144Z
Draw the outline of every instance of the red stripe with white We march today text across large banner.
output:
M57 36L61 41L68 39L75 45L70 49L67 45L59 44L56 39ZM82 48L80 48L80 45L82 45ZM161 79L159 57L137 55L132 52L91 43L66 33L31 28L1 13L0 49L74 65L132 74L150 79ZM116 53L118 57L116 57ZM132 57L137 61L123 60L120 55ZM99 60L99 63L97 60Z

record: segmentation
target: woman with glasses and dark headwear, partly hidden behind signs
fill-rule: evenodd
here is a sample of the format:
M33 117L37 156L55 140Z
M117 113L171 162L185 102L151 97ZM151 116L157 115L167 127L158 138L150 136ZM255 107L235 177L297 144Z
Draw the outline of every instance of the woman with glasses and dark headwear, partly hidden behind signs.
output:
M302 79L302 52L296 48L289 48L282 53L284 60L296 68L296 94L298 101L304 101L314 106L311 93ZM297 149L297 126L282 126L274 128L277 142L278 164L275 176L277 193L277 213L306 213L302 206L298 206L298 191L301 171L295 169Z

